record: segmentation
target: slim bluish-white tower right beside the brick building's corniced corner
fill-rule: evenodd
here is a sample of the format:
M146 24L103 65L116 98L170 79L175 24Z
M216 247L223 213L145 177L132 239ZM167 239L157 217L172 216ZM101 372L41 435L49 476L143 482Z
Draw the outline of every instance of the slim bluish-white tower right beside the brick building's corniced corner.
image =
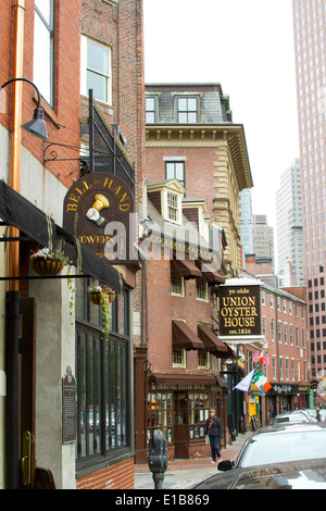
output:
M246 269L246 253L253 253L252 194L250 188L244 188L239 195L239 227L242 265Z

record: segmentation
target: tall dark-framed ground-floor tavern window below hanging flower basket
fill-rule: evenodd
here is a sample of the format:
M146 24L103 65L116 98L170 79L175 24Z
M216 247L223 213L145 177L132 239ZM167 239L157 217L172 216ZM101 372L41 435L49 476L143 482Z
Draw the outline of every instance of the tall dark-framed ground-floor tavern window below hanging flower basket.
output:
M100 307L88 301L87 284L76 279L76 457L83 466L130 446L129 292L124 289L110 306L105 335Z

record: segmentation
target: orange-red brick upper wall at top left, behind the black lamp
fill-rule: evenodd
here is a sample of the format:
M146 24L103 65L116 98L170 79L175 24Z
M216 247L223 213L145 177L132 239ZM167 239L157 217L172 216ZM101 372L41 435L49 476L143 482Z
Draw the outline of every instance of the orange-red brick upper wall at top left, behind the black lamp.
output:
M33 82L34 54L34 0L25 2L24 20L24 62L23 77ZM55 0L54 26L54 107L45 107L49 141L65 145L79 145L79 48L80 48L80 2L78 0ZM11 79L13 47L13 2L4 2L1 7L0 48L1 48L1 84ZM0 84L0 85L1 85ZM4 112L0 122L11 127L11 88L5 87ZM41 92L41 90L40 90ZM3 94L3 92L2 92ZM30 121L36 107L36 94L28 84L23 84L23 124ZM2 109L1 109L2 112ZM43 142L22 129L22 144L32 154L43 161ZM62 158L62 152L59 158ZM76 151L65 151L64 158L78 158ZM78 163L61 161L46 165L65 186L71 186L78 177Z

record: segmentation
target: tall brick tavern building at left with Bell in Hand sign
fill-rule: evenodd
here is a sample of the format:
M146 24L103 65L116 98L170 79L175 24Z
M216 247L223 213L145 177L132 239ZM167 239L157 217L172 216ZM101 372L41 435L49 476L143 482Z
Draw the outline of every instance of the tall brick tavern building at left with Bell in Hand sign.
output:
M105 177L105 192L117 204L109 213L123 214L118 205L126 198L137 212L145 142L142 2L7 2L0 40L0 86L24 78L0 91L0 370L7 376L0 487L133 488L138 259L109 264L90 242L80 242L77 222L66 228L66 216L83 200L91 205L91 186ZM37 90L46 140L21 129L33 116ZM68 199L73 205L64 209ZM86 215L83 222L97 228ZM43 247L62 249L71 269L38 275L30 253ZM115 291L110 335L99 306L87 298L88 286L98 284Z

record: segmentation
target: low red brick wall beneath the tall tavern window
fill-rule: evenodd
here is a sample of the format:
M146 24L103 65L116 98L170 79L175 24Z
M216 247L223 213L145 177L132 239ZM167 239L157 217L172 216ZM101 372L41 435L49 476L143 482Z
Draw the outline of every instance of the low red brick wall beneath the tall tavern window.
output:
M134 461L85 475L77 479L77 489L134 489Z

